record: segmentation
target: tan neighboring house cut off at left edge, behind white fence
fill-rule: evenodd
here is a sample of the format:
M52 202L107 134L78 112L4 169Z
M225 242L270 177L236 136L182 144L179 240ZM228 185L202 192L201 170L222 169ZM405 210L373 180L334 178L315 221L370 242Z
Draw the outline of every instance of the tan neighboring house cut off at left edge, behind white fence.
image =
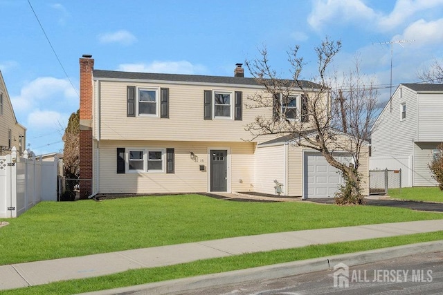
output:
M14 109L0 71L0 155L15 146L21 154L26 148L26 128L17 122Z

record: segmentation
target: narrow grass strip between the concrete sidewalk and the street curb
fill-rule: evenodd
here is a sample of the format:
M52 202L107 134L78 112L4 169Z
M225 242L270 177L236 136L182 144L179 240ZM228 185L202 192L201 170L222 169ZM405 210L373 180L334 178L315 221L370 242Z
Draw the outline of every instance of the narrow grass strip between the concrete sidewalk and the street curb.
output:
M2 294L77 294L433 240L443 240L443 231L243 254L239 256L198 260L192 263L183 263L168 267L133 269L108 276L66 280L46 285L11 289L3 291Z

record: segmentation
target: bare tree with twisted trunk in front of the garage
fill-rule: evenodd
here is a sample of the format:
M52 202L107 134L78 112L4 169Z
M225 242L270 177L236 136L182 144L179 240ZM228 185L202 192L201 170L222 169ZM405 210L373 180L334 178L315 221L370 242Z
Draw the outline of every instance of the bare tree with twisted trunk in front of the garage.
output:
M248 107L272 107L272 117L259 115L246 126L255 137L260 135L288 135L298 146L319 151L329 164L340 170L345 180L337 196L337 203L364 204L361 175L358 171L364 147L368 145L370 127L375 119L377 91L363 84L357 70L338 88L332 88L327 68L341 49L340 41L325 39L315 48L318 57L318 77L315 82L300 79L305 63L298 57L299 46L291 50L289 64L292 79L280 79L271 69L266 48L259 50L260 59L246 61L246 67L263 91L249 97ZM338 86L338 79L336 86ZM293 114L289 108L293 95L302 93L300 110ZM338 161L338 151L346 151L353 164Z

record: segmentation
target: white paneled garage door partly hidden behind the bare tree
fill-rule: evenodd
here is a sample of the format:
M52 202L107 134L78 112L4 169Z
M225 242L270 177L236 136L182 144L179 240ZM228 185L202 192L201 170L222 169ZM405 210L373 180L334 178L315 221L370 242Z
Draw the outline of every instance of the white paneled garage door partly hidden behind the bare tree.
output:
M334 198L338 184L343 178L338 169L329 165L325 157L318 152L305 152L304 155L304 197ZM352 157L345 153L336 154L336 160L349 164Z

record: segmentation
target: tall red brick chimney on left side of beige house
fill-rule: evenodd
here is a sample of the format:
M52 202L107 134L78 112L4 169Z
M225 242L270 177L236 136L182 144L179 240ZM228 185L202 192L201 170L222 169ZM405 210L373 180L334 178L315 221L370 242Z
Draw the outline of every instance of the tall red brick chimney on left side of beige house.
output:
M92 191L92 55L80 58L80 199Z

